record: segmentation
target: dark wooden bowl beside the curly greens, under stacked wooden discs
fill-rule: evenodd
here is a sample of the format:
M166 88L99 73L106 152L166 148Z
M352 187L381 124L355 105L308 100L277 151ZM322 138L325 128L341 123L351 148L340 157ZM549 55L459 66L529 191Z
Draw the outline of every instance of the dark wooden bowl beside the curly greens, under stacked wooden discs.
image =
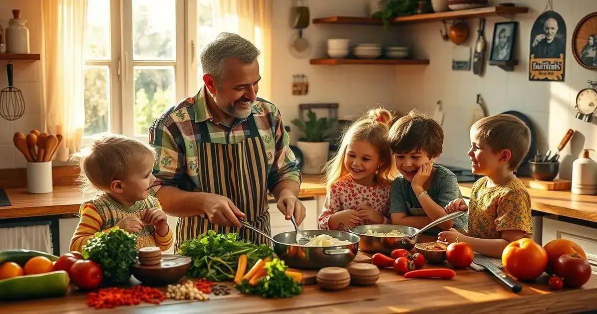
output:
M162 255L158 265L144 266L133 264L133 276L146 285L168 285L178 282L190 268L190 257L176 254Z

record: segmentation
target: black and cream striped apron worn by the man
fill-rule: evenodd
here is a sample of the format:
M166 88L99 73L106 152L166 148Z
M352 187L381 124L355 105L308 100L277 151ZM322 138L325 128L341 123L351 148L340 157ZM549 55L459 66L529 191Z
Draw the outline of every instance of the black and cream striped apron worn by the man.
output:
M223 195L232 200L246 221L270 235L269 212L267 212L267 157L263 141L259 137L253 115L247 119L251 137L236 144L210 142L207 121L199 123L201 142L197 142L198 181L196 191ZM269 240L247 228L221 226L211 223L205 215L180 217L176 225L175 250L185 240L195 238L208 230L228 234L237 232L240 238L257 244Z

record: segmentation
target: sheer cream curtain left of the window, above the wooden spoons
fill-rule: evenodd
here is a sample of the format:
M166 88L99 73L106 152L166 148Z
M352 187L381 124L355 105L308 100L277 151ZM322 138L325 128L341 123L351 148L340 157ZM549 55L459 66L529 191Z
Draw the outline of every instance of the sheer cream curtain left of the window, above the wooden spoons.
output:
M87 0L44 0L42 82L48 133L63 136L54 159L81 148L85 127L84 33Z

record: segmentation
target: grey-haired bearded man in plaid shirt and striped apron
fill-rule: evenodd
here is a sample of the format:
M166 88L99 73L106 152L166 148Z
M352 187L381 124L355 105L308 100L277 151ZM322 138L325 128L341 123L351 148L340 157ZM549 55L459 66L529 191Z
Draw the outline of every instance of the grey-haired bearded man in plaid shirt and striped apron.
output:
M257 97L259 50L241 36L220 33L201 53L204 86L153 122L149 142L158 158L152 192L179 216L176 248L208 230L239 232L245 220L270 234L267 191L286 219L305 217L300 172L278 109Z

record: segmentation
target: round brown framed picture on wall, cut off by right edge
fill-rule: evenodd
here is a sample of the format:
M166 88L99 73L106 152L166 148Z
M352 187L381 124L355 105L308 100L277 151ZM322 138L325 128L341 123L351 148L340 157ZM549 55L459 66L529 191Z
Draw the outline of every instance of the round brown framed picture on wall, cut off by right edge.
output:
M572 54L585 69L597 70L597 12L578 22L572 34Z

